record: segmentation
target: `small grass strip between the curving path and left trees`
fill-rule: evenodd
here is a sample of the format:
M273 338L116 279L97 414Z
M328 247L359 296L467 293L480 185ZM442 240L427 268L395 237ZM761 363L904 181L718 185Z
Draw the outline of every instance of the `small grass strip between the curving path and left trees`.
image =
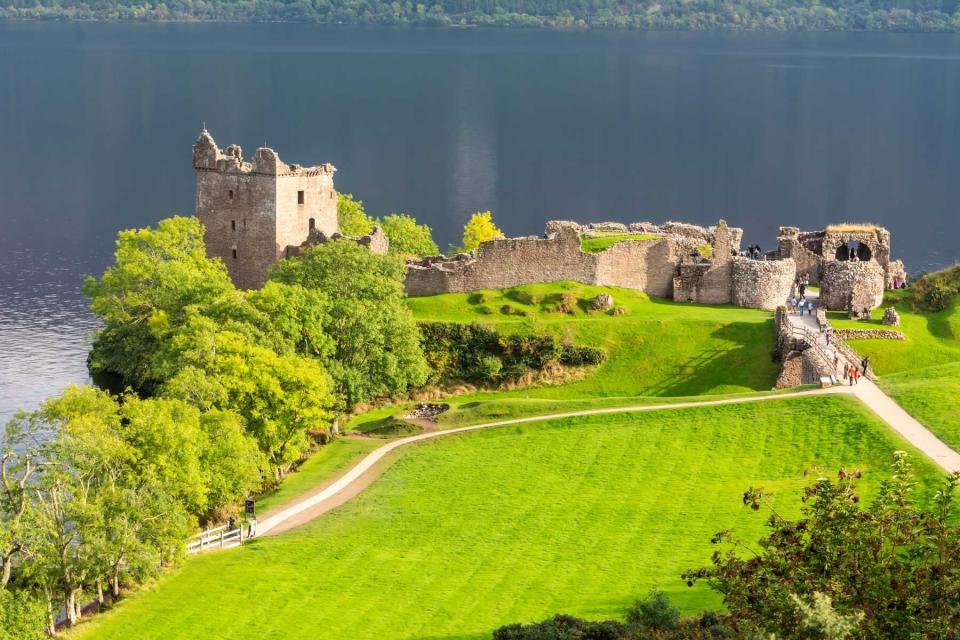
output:
M257 513L298 498L321 486L340 472L352 467L360 458L383 444L375 440L338 438L318 449L306 462L286 478L276 491L257 500Z

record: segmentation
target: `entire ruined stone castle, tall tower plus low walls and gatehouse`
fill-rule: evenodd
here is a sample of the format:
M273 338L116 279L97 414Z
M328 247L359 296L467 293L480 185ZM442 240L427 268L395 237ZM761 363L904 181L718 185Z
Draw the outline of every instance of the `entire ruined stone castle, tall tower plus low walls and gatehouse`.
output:
M268 148L244 162L240 147L221 151L204 130L193 145L193 166L207 254L224 261L240 288L261 286L278 259L340 237L331 164L288 165ZM582 237L604 233L627 237L602 251L582 249ZM712 227L552 221L542 237L498 238L475 254L408 261L405 288L426 296L573 280L682 302L775 309L805 275L820 285L822 306L863 315L905 275L891 259L890 233L875 225L781 227L777 248L762 259L743 255L742 237L723 220ZM378 253L389 242L378 228L354 240Z

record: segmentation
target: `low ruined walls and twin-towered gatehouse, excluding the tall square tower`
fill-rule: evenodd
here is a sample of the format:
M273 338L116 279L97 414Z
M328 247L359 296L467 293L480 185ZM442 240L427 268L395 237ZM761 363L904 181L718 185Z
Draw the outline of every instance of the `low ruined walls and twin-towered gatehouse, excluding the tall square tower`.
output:
M597 253L583 251L581 236L604 233L627 239ZM904 277L903 263L890 259L890 233L875 225L806 233L782 227L777 249L762 259L742 255L742 237L742 229L723 220L712 227L552 221L543 237L500 238L480 245L475 255L410 262L406 290L425 296L574 280L678 302L775 309L806 275L820 285L825 308L862 315L880 305L885 286Z

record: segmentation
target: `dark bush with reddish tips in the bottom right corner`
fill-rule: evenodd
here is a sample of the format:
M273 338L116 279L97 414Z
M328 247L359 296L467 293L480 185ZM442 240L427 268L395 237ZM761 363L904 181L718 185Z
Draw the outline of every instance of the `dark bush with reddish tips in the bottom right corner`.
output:
M771 508L770 535L752 557L742 553L749 545L720 532L714 542L730 548L685 578L706 579L720 592L742 633L950 637L960 627L960 526L952 516L960 473L947 477L929 510L913 500L903 452L869 508L860 503L859 477L841 470L836 480L816 480L805 490L798 520ZM743 500L754 510L770 507L762 489L749 489ZM804 629L807 635L798 636Z

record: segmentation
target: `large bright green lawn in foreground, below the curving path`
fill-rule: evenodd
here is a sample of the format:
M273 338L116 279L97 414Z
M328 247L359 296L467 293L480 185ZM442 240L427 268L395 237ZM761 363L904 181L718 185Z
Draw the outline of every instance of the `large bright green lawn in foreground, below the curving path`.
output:
M557 611L619 616L654 586L685 611L716 607L678 575L708 562L721 528L762 534L765 515L740 504L748 485L796 513L807 465L857 465L869 498L897 448L909 449L833 396L443 438L327 516L191 559L76 635L479 639ZM929 494L939 474L914 460Z

